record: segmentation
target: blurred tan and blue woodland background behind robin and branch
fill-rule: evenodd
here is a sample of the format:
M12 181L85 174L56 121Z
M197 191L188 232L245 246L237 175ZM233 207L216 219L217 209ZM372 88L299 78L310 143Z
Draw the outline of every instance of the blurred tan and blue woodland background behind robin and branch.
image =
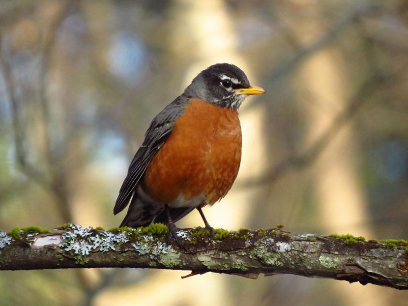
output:
M241 168L204 209L212 226L408 238L406 0L1 0L0 228L117 226L150 120L217 62L267 93L240 109ZM0 304L408 305L374 285L188 273L1 272Z

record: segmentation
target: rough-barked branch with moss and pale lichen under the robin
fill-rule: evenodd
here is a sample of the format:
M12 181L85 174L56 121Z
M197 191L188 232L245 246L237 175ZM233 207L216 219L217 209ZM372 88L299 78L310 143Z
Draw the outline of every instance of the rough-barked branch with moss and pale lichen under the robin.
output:
M169 239L162 224L114 231L69 225L55 233L0 232L0 269L131 267L216 272L256 278L295 274L408 289L404 240L293 234L282 230L180 229Z

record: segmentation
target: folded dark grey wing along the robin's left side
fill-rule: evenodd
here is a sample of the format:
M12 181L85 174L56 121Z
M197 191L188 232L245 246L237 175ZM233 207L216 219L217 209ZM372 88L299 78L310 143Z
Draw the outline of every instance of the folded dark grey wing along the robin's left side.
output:
M136 152L130 163L127 176L119 190L114 207L114 215L121 212L134 194L146 167L173 132L175 120L183 113L188 99L179 96L153 118L145 134L142 146Z

